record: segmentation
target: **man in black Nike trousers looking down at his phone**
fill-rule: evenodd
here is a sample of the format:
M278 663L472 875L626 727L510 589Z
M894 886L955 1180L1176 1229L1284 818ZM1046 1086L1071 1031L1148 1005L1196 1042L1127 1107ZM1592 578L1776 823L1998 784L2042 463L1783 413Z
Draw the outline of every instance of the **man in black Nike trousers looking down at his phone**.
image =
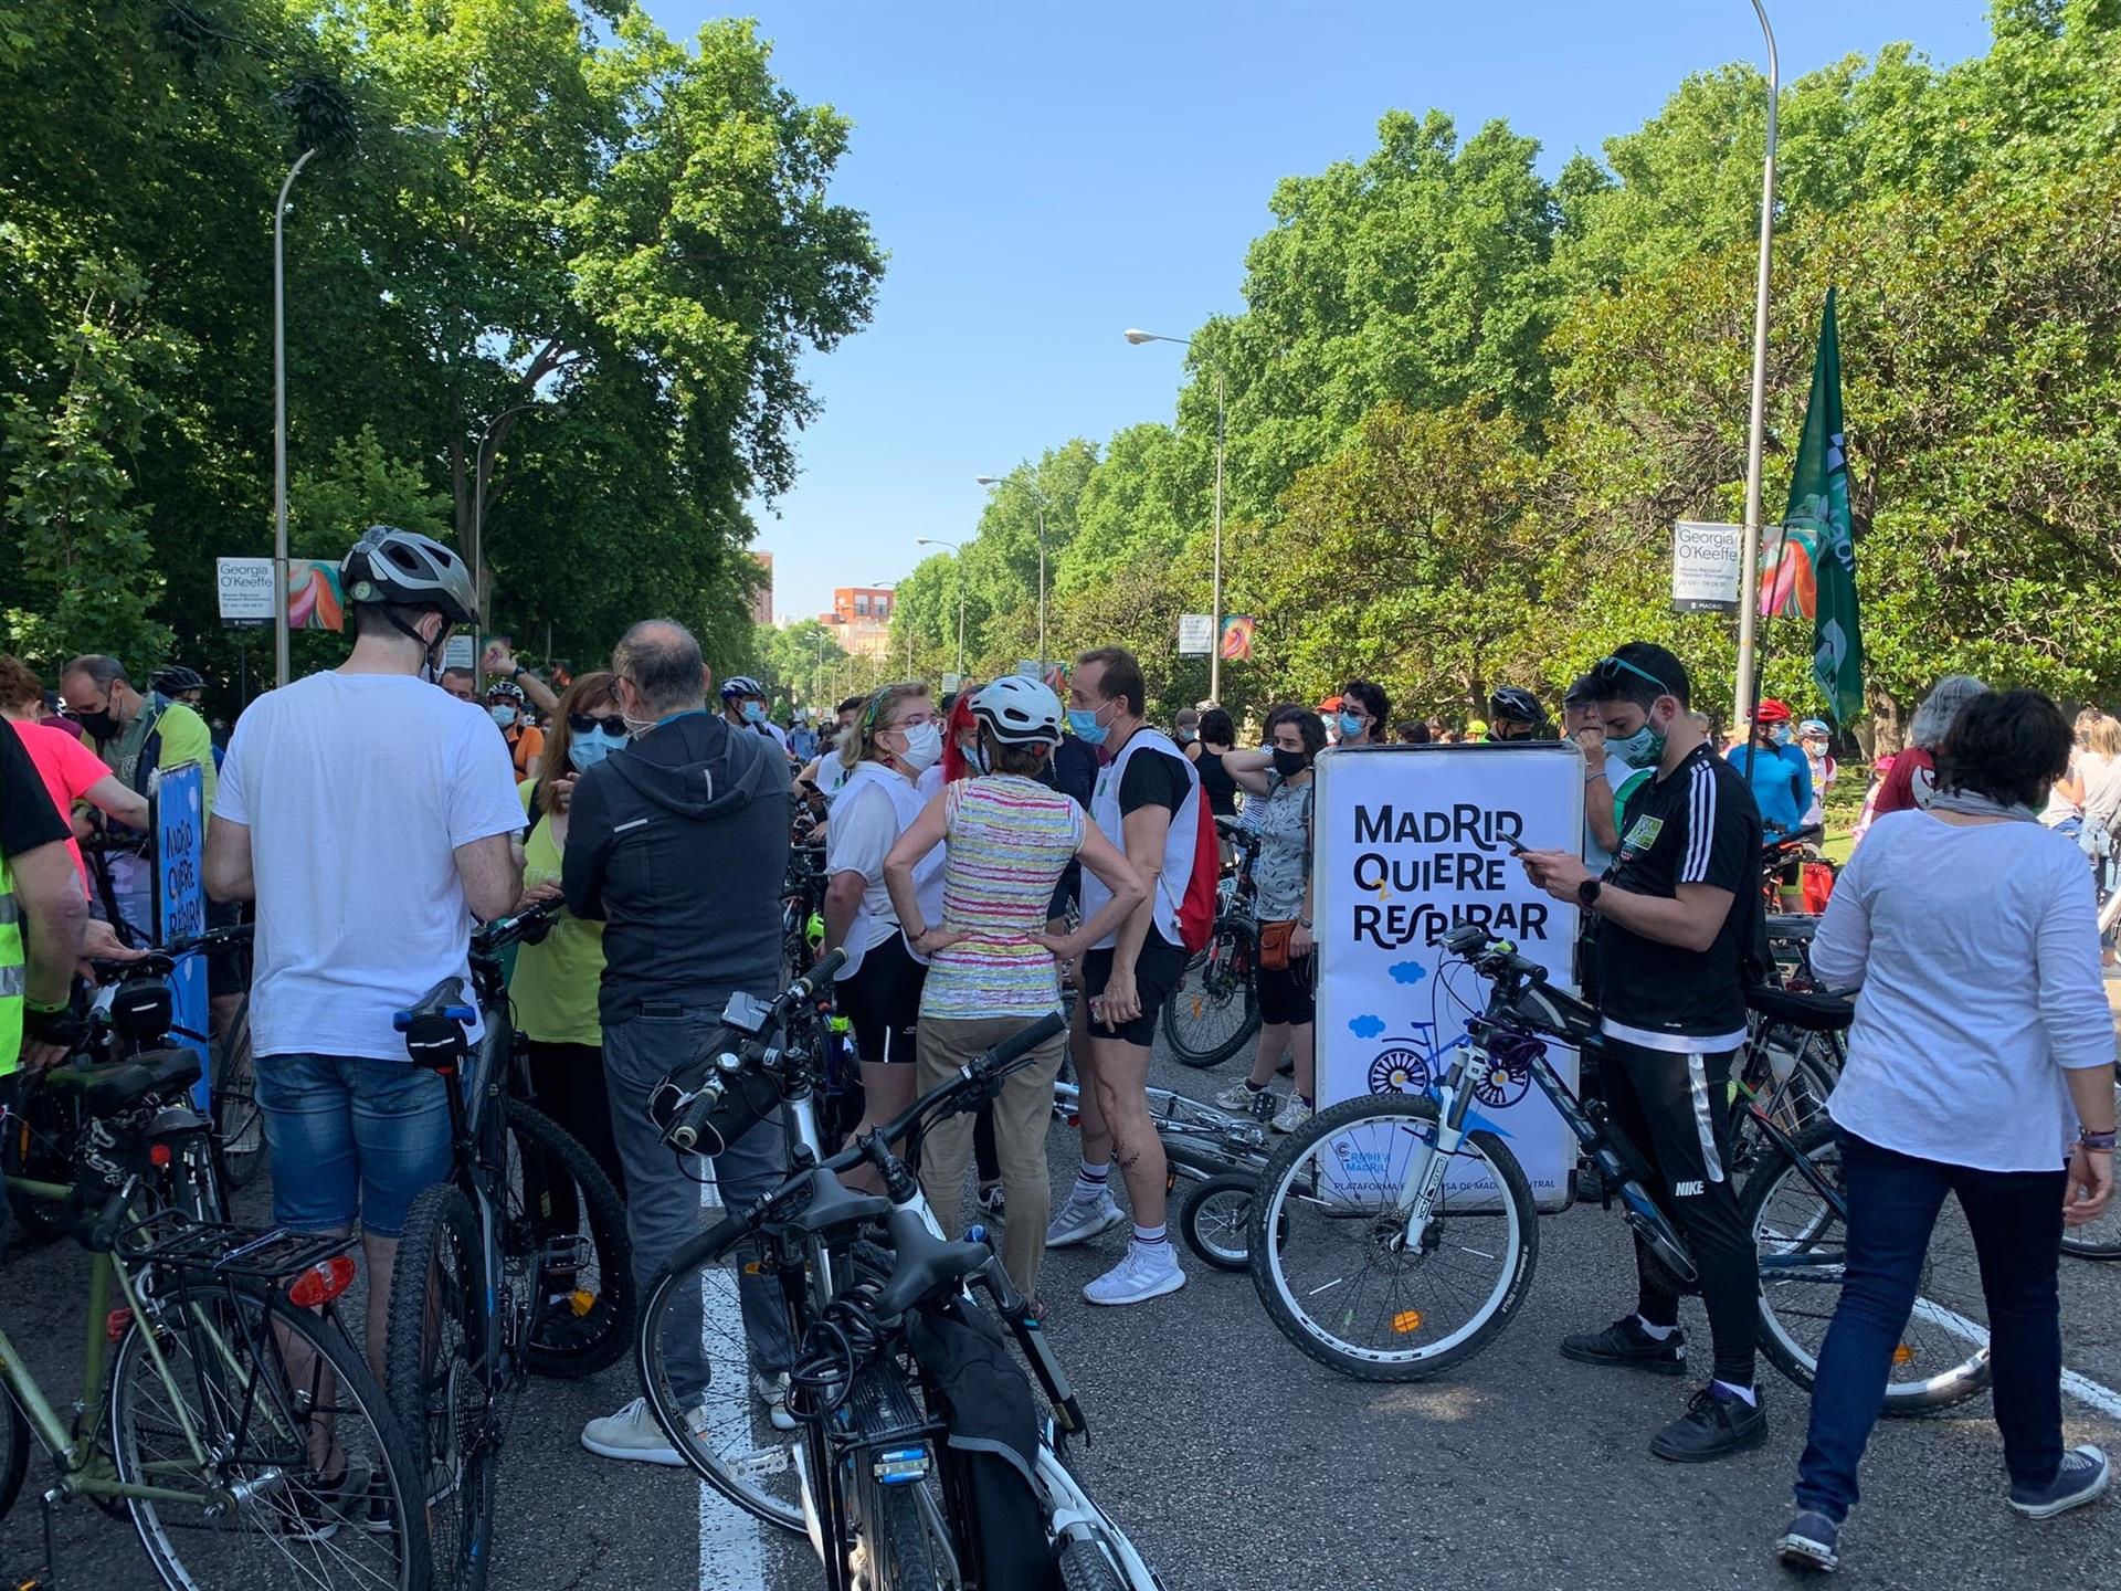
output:
M1659 1173L1701 1275L1714 1381L1650 1440L1657 1457L1693 1464L1767 1440L1752 1381L1758 1256L1731 1184L1731 1063L1746 1044L1748 965L1767 955L1760 812L1693 721L1678 658L1637 641L1591 672L1606 747L1654 774L1627 798L1603 878L1574 851L1523 861L1550 895L1597 916L1606 1105ZM1640 1243L1635 1269L1635 1313L1563 1339L1561 1353L1684 1375L1680 1300Z

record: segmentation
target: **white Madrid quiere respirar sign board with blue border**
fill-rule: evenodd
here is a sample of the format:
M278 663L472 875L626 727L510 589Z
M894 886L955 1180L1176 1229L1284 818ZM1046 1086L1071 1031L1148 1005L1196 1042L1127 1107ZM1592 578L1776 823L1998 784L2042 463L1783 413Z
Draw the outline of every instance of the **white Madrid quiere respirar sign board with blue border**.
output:
M1570 742L1332 749L1317 759L1313 853L1324 1109L1360 1095L1436 1095L1487 980L1444 965L1438 936L1483 923L1576 989L1578 908L1538 889L1512 846L1582 849L1582 753ZM1548 1042L1574 1086L1576 1052ZM1502 1137L1542 1209L1567 1203L1576 1139L1517 1076L1472 1107ZM1476 1196L1485 1175L1453 1171Z

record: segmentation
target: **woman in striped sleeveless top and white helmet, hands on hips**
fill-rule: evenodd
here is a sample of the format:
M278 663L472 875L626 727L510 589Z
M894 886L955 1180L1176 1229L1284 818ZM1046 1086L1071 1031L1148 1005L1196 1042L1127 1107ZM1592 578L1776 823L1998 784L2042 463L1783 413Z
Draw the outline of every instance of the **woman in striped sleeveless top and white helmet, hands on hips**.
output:
M1060 700L1035 679L997 679L971 704L980 730L980 774L946 785L884 857L884 887L914 950L929 957L916 1054L925 1092L967 1061L1060 1008L1058 963L1118 929L1143 899L1141 878L1084 810L1037 781L1060 745ZM929 923L914 870L948 840L942 921ZM1046 921L1054 882L1075 857L1111 899L1073 933ZM1046 1126L1063 1035L1031 1052L995 1099L995 1146L1010 1224L1001 1264L1027 1298L1037 1298L1052 1184ZM921 1182L944 1230L965 1226L965 1169L971 1120L952 1116L923 1148Z

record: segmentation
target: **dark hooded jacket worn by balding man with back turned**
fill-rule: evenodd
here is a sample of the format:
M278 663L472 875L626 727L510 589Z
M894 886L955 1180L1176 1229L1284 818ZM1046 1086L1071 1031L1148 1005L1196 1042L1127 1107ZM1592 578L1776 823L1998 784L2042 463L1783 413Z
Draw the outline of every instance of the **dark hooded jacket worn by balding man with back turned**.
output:
M575 785L560 887L602 919L598 1012L781 984L789 764L704 711L664 719Z

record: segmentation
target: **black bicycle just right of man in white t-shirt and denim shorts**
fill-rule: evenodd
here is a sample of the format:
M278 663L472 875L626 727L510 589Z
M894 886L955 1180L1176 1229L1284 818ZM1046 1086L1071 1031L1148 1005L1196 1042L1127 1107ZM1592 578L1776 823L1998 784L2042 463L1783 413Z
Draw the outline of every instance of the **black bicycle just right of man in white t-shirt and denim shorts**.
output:
M450 1182L405 1213L386 1332L390 1406L418 1474L435 1583L490 1574L494 1487L515 1394L532 1373L583 1377L632 1336L632 1256L617 1190L590 1152L528 1103L501 950L543 936L558 904L473 936L479 1010L443 978L397 1014L416 1065L450 1099ZM471 1025L486 1035L471 1048Z

